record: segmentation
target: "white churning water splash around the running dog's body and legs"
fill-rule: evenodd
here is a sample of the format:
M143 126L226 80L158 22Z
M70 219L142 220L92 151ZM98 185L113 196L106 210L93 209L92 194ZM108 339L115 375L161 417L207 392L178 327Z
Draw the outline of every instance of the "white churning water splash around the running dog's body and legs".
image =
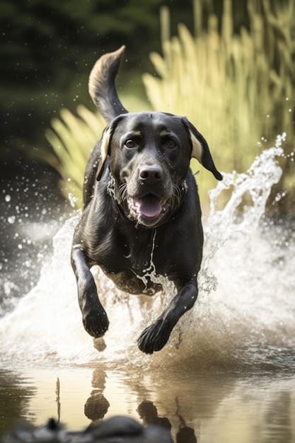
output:
M183 365L185 361L192 361L195 367L226 366L241 364L241 347L294 346L294 232L261 223L272 186L282 175L277 163L282 154L277 142L263 151L246 173L224 174L223 182L210 191L199 299L180 319L161 352L143 355L137 348L137 337L168 304L170 289L161 297L129 296L96 267L92 272L110 328L105 350L98 352L93 347L81 323L69 262L71 238L79 219L74 217L54 236L54 254L37 285L0 321L2 362L126 365L132 355L132 364L141 367ZM223 209L216 209L222 192L229 189L229 201ZM245 195L250 196L250 204L241 212ZM287 236L288 243L284 241Z

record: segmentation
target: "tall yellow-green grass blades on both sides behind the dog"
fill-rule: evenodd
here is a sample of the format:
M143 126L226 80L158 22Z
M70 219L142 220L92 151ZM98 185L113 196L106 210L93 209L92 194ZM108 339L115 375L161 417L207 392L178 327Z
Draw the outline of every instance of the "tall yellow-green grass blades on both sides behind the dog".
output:
M163 55L151 53L156 75L144 74L146 95L154 110L186 115L207 139L221 171L245 171L255 155L287 132L288 155L294 150L295 4L294 0L248 0L249 30L233 33L231 0L219 18L209 13L202 23L202 0L194 0L195 35L178 25L170 35L168 8L161 9ZM126 103L124 101L124 103ZM144 106L144 105L143 105ZM129 110L134 110L132 105ZM64 195L81 206L83 171L89 151L105 126L98 113L77 108L78 117L61 111L47 130L54 154L48 161L62 176ZM282 160L281 188L293 189L294 163ZM201 169L197 161L192 168ZM215 179L198 175L201 197Z

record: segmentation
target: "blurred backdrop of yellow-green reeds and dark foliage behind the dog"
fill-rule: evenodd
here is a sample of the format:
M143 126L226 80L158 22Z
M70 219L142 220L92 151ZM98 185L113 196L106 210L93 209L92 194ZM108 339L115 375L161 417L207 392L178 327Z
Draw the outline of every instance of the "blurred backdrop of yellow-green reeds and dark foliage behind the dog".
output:
M279 214L294 214L294 0L0 5L2 187L25 166L81 207L86 159L105 125L88 96L88 75L101 54L125 44L117 79L125 107L186 115L221 171L245 171L287 132L272 200L280 196ZM201 169L206 204L214 180L192 168Z

